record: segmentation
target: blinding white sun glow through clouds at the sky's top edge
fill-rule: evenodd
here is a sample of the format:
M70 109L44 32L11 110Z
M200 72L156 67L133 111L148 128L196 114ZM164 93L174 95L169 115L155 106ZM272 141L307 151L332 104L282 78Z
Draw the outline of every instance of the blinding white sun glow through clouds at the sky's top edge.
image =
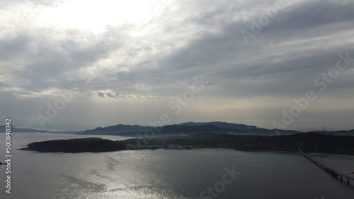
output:
M154 13L148 1L64 1L57 8L43 13L48 23L64 28L88 28L100 30L107 25L147 23Z

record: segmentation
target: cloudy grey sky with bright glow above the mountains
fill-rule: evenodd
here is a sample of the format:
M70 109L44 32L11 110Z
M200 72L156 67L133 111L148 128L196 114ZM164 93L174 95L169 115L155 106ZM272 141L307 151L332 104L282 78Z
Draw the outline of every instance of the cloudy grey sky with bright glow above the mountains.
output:
M1 0L0 119L53 131L186 121L352 129L353 8Z

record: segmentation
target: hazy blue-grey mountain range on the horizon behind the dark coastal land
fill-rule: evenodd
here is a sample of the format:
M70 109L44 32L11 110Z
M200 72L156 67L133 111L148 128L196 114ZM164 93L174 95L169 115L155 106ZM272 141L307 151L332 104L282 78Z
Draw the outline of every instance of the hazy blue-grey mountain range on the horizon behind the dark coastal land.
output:
M176 136L176 135L193 135L196 133L232 133L234 135L293 135L302 133L295 130L266 129L256 126L249 126L239 123L227 123L220 121L211 122L187 122L174 125L166 125L161 127L124 125L98 127L93 130L76 132L79 135L120 135L128 137L142 137L146 131L156 132L156 136ZM333 135L354 135L354 130L350 131L315 131L321 134Z

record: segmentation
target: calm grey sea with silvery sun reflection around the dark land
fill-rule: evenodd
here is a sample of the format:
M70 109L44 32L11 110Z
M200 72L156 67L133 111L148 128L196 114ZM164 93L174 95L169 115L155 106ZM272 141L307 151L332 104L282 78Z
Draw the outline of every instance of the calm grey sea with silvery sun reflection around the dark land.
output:
M354 181L348 186L295 153L15 150L40 140L84 137L89 136L13 133L11 194L5 192L1 165L0 198L354 198ZM0 162L4 162L4 133L0 138ZM354 157L312 156L340 171L354 171Z

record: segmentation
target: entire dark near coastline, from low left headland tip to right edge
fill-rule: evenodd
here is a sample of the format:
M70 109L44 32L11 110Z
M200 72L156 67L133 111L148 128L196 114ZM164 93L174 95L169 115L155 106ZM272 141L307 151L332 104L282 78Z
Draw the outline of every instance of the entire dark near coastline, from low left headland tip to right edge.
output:
M81 138L30 143L21 150L38 152L108 152L141 149L230 148L235 150L272 150L281 152L319 152L354 155L354 136L297 133L294 135L259 136L228 133L197 133L188 136L160 136L149 140L105 140Z

